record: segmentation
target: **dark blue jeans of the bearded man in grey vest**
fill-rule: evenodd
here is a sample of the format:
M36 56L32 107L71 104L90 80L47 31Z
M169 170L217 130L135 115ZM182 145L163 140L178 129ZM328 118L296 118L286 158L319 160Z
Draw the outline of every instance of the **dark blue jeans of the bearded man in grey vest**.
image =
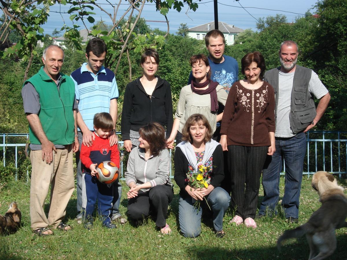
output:
M266 158L263 169L264 199L260 205L259 214L264 215L266 210L274 212L276 209L279 199L280 172L284 158L286 175L282 207L286 218L299 217L299 197L305 154L305 133L298 133L290 138L276 138L276 151L271 157Z

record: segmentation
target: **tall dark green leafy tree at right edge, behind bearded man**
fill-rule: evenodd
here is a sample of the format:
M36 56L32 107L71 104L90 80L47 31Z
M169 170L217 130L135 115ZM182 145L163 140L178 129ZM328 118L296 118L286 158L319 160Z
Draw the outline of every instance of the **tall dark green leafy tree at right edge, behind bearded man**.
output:
M317 25L313 32L314 49L305 53L314 61L314 70L331 94L329 108L319 122L330 130L345 130L347 125L347 2L319 0Z

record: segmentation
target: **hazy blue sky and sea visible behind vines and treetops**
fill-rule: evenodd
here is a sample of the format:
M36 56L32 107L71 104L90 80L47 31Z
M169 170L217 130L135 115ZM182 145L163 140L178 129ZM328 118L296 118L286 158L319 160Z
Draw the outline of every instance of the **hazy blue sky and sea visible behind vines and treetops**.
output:
M113 8L110 7L105 0L97 0L96 2L100 3L102 8L108 12L113 12ZM183 7L180 12L174 9L169 10L167 17L170 24L170 33L176 33L181 23L187 24L187 26L191 28L214 21L213 0L196 2L199 7L195 12L188 10L187 5ZM126 4L127 1L122 0L122 3ZM269 15L276 16L276 14L284 14L287 16L288 22L294 22L297 16L304 15L315 3L316 0L218 0L218 20L242 29L251 28L256 31L256 19L262 17L266 18ZM119 8L117 19L124 13L126 7L127 5L122 5ZM64 22L69 26L72 25L69 19L70 15L64 13L67 12L68 9L68 6L55 5L51 7L48 22L42 26L45 34L51 34L55 28L59 31L64 25ZM102 19L106 24L111 24L110 18L99 9L95 8L94 12L96 12L96 15L93 15L93 17L96 21ZM314 14L315 9L312 9L311 12ZM167 31L166 23L153 22L153 20L165 21L164 16L162 16L159 11L155 11L153 3L147 3L145 5L141 17L146 19L147 24L150 25L152 29L159 28L162 31ZM81 29L84 28L82 27L82 23L78 24L81 25ZM93 24L86 21L86 26L90 28Z

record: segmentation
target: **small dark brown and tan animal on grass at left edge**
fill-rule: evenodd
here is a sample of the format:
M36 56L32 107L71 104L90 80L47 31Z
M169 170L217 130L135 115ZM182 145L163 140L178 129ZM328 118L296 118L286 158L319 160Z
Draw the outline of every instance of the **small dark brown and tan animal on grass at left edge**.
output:
M14 233L20 226L22 213L17 208L17 203L12 202L5 216L0 215L0 234Z

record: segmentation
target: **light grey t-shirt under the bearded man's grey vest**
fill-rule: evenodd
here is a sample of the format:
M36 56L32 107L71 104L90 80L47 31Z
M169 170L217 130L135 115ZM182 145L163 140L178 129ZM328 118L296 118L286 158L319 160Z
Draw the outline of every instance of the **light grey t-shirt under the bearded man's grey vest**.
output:
M295 136L290 129L290 104L291 104L291 90L293 88L294 73L278 72L278 104L276 111L276 137L292 137ZM318 75L312 70L311 79L308 83L310 93L315 98L320 99L329 91L323 85Z

